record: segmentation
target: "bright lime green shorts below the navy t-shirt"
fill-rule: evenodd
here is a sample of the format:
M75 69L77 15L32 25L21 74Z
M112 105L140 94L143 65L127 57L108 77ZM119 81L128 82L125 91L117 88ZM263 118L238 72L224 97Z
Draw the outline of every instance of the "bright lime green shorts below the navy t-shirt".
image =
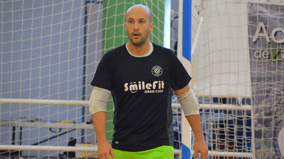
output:
M172 146L160 146L154 149L139 151L139 152L129 152L113 149L114 156L116 159L173 159L174 158L174 148ZM112 157L110 157L112 159Z

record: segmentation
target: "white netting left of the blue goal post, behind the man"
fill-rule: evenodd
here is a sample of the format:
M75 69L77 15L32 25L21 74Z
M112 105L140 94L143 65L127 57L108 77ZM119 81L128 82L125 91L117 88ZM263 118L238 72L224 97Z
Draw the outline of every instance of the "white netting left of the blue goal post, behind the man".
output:
M66 150L67 146L97 147L88 110L90 83L102 55L128 42L124 14L134 4L153 11L155 27L149 39L163 45L164 19L171 21L177 11L168 8L171 14L165 17L161 0L0 2L1 157L98 157L96 152ZM167 40L174 46L176 30ZM110 98L109 142L112 113ZM14 150L9 147L13 145L22 147ZM27 145L46 147L27 150L23 147ZM51 150L54 147L57 150Z

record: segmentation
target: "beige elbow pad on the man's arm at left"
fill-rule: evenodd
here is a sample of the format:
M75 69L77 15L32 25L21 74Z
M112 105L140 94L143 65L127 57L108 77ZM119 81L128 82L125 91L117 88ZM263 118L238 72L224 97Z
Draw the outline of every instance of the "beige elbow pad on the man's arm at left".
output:
M89 102L89 111L93 115L96 112L106 112L107 102L111 91L94 86Z

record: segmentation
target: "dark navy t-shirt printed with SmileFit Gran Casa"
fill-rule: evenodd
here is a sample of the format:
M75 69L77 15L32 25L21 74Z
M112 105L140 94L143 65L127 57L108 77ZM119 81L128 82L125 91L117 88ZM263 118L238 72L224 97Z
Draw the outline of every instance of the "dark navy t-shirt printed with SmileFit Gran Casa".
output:
M174 146L171 88L182 89L191 77L170 49L153 47L146 57L130 55L125 44L107 52L91 82L112 92L114 149Z

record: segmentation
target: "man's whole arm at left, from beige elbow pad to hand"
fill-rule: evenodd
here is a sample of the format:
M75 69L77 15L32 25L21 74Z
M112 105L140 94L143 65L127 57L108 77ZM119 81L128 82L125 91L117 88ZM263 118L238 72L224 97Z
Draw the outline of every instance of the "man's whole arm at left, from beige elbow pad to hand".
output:
M109 159L109 154L115 159L112 147L106 139L106 110L110 93L109 90L94 86L89 103L89 111L96 131L100 159Z

